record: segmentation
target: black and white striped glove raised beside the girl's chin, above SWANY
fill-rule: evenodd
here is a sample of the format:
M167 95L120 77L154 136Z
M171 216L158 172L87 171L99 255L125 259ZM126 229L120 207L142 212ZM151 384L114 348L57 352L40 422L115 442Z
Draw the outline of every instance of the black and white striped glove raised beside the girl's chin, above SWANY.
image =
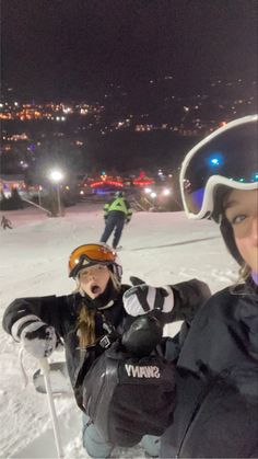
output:
M124 296L124 307L129 315L142 315L156 310L168 313L174 307L174 294L171 287L152 287L138 277L130 277L133 287Z

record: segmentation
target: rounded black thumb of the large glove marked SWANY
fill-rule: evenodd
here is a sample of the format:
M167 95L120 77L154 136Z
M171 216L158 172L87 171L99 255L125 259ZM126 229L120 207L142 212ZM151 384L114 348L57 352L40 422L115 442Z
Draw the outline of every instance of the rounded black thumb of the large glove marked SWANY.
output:
M161 343L163 335L162 323L152 315L140 315L124 333L121 344L128 352L138 357L144 357Z

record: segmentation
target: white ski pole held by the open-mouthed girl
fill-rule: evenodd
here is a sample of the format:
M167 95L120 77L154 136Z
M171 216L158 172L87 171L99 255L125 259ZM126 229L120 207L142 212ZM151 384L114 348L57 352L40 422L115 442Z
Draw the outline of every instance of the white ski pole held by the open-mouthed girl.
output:
M58 458L63 458L63 451L62 451L62 445L61 445L61 437L60 437L60 431L57 420L57 413L55 409L54 398L52 398L52 391L51 391L51 385L50 385L50 378L49 378L49 364L48 359L46 357L39 359L39 365L44 375L45 386L47 390L47 399L48 399L48 405L49 411L51 415L51 422L52 422L52 429L54 429L54 436L56 440L56 447L57 447L57 454Z

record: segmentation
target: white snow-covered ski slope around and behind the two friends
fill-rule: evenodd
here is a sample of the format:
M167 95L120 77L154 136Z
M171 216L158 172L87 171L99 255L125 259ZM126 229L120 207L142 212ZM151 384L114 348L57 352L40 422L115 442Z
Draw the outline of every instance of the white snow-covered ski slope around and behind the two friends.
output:
M0 232L0 308L16 297L63 295L74 288L68 278L68 256L78 245L97 241L103 231L102 205L80 204L62 218L48 218L28 208L5 211L13 230ZM1 216L0 216L1 217ZM160 286L198 277L212 292L237 277L212 221L191 221L184 213L136 213L125 228L119 253L124 283L130 275ZM173 334L178 324L169 325ZM24 358L30 382L24 388L19 367L19 345L0 329L0 457L56 457L46 395L35 392L32 376L38 368ZM51 360L63 358L55 353ZM72 397L56 398L66 459L85 458L81 446L81 413ZM116 457L142 457L141 447L116 449Z

